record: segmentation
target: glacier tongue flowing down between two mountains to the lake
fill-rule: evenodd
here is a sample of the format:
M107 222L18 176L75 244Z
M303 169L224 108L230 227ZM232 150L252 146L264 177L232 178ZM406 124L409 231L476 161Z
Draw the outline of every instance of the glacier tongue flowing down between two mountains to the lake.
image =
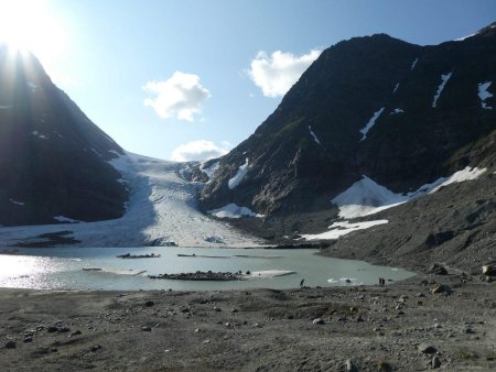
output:
M40 234L72 231L75 247L254 247L227 223L203 215L195 195L200 184L184 180L184 164L127 153L110 162L130 189L123 217L115 220L0 228L0 243L40 242ZM60 219L60 217L54 217Z

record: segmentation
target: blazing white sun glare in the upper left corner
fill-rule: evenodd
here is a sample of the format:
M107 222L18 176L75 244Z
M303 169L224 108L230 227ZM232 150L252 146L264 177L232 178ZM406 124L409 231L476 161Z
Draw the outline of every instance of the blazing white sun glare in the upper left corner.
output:
M0 42L50 59L63 50L65 31L45 0L0 0Z

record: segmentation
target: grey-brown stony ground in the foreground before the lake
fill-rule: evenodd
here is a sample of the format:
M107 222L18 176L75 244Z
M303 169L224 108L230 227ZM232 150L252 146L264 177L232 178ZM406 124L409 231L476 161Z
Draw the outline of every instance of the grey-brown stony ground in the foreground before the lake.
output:
M435 284L443 291L432 293ZM450 291L448 291L450 287ZM489 371L496 284L0 291L2 371Z

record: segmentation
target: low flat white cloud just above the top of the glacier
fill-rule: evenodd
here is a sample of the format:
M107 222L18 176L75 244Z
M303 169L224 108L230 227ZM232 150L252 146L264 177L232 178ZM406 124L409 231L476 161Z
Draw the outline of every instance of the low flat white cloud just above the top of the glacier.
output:
M172 151L172 160L176 162L203 161L225 155L230 150L229 142L216 145L212 141L198 140L182 144Z

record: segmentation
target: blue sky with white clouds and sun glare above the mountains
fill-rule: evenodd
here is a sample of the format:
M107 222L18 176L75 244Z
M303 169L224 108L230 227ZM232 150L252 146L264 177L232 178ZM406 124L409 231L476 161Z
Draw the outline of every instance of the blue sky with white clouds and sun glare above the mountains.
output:
M496 21L493 0L0 0L0 40L125 150L217 157L246 140L320 53L387 33L439 44Z

